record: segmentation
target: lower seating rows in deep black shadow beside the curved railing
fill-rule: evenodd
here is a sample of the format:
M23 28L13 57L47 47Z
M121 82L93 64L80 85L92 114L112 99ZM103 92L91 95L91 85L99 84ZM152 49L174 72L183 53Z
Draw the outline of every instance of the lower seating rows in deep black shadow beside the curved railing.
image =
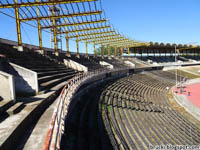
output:
M90 89L71 102L65 121L61 149L113 149L98 109L102 87L103 85Z

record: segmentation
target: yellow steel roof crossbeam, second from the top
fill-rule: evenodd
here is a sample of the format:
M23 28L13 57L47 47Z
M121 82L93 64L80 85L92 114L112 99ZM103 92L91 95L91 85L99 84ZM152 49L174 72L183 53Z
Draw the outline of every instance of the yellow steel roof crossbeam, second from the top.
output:
M69 17L76 17L76 16L97 15L97 14L101 14L101 13L102 13L102 11L91 11L91 12L81 12L81 13L64 14L64 15L57 15L57 16L40 16L40 17L23 18L23 19L20 19L20 21L34 21L34 20L45 20L45 19L69 18Z

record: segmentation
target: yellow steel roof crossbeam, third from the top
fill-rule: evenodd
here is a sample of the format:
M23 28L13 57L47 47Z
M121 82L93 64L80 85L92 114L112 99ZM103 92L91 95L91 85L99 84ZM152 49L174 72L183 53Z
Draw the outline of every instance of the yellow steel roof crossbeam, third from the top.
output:
M95 24L95 23L102 23L106 22L107 20L97 20L97 21L89 21L89 22L79 22L79 23L72 23L72 24L59 24L56 25L56 27L68 27L68 26L78 26L78 25L86 25L86 24ZM42 29L48 29L48 28L53 28L53 26L44 26Z

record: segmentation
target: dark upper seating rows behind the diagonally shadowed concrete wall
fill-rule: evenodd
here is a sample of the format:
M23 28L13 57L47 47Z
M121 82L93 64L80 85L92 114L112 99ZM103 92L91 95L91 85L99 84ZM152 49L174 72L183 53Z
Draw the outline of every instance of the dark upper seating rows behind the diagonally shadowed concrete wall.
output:
M46 93L51 90L57 90L63 86L63 82L72 78L77 72L67 68L64 64L58 64L55 61L25 49L19 52L11 45L0 45L0 54L17 65L28 68L37 72L38 82L41 93ZM3 71L7 72L7 67ZM60 85L59 85L60 84Z

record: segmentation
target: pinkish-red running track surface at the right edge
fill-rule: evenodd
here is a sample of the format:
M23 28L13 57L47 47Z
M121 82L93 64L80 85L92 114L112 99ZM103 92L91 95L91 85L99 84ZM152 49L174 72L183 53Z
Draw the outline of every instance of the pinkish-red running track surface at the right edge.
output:
M174 89L175 90L175 89ZM195 106L200 108L200 83L187 85L184 88L183 93L180 93L180 89L177 90L179 95L186 95ZM190 95L188 94L190 92Z

